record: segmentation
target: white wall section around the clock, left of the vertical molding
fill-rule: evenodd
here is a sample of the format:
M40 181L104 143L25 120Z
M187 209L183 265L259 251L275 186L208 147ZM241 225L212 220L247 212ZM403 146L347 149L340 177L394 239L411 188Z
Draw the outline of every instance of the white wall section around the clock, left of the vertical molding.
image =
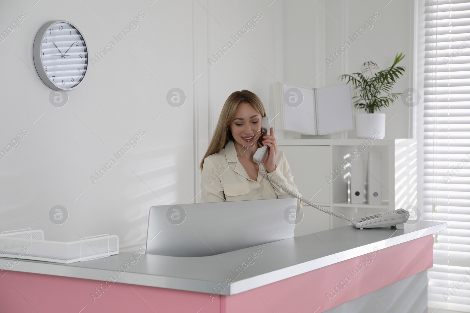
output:
M192 2L151 4L2 1L2 31L22 12L28 17L0 43L0 146L23 129L28 135L0 160L1 231L45 229L46 239L64 241L116 234L125 249L144 243L150 206L191 202ZM39 79L32 58L39 28L51 20L70 21L93 55L139 12L145 17L138 28L94 67L89 64L64 107L52 106L51 89ZM166 102L174 87L187 96L178 108ZM94 171L141 129L145 135L138 145L93 184ZM69 213L62 225L49 220L56 205Z

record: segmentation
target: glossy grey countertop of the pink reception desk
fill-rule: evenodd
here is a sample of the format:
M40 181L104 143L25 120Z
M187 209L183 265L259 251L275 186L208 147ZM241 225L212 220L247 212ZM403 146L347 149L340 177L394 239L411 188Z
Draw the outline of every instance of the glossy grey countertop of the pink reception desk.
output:
M71 264L21 260L10 270L106 282L113 276L121 283L235 295L445 229L445 222L434 221L405 224L405 229L356 229L349 225L206 257L141 254L137 258L131 252L119 252ZM9 260L0 258L0 268ZM227 286L224 282L229 276L233 281L228 280Z

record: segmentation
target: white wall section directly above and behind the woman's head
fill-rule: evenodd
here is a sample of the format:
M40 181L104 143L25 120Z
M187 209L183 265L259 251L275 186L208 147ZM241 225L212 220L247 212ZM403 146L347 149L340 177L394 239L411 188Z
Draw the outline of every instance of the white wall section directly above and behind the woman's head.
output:
M208 68L209 129L215 129L227 97L248 89L263 101L267 114L274 116L274 82L282 81L282 1L209 1L208 55L230 41L234 44ZM254 28L235 42L231 38L257 13L262 15ZM256 19L255 19L256 20ZM218 22L219 21L219 22ZM222 24L222 26L220 24Z

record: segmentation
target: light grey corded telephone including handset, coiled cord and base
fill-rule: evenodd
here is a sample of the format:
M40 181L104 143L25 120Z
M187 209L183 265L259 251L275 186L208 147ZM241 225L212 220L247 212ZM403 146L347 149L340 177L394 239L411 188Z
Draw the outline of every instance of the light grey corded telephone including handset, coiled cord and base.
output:
M269 118L267 116L263 116L261 120L261 130L265 130L267 135L271 135L271 127L269 126ZM256 153L253 155L253 160L256 163L261 164L261 162L264 160L266 156L268 148L269 147L267 145L258 148L258 150L256 150ZM299 196L294 191L287 189L282 183L279 183L273 176L269 175L263 168L259 167L259 170L261 171L261 173L263 173L264 176L266 176L267 179L275 183L277 186L281 187L282 190L286 191L288 194L290 194L294 198L298 198L299 200L305 202L306 204L314 207L317 210L320 210L321 212L328 213L332 216L336 216L345 221L349 221L356 228L363 229L363 228L395 226L396 229L404 229L404 223L408 220L410 216L407 210L398 209L394 211L385 211L385 212L377 213L373 215L361 216L361 217L353 219L349 216L339 214L337 212L333 212L329 209L327 210L321 206L318 206L310 202L304 197Z

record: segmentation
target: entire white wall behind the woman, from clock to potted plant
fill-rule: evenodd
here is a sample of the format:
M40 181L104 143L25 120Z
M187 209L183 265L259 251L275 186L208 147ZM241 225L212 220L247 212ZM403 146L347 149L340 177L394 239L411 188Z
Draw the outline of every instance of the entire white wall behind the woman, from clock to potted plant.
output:
M45 229L49 240L109 233L119 236L122 250L132 249L145 243L150 206L198 201L199 162L235 90L255 92L274 116L276 80L339 84L337 76L369 60L365 52L381 66L389 66L396 52L407 54L403 65L411 60L406 0L387 8L365 0L347 6L342 0L34 2L0 2L0 31L22 12L28 14L0 43L0 147L28 131L0 160L0 231ZM381 17L374 28L326 68L325 56L375 11ZM84 81L68 92L67 105L52 106L51 90L32 58L39 27L60 19L76 24L93 56L139 12L145 18L138 28L102 61L89 64ZM257 12L263 16L255 28L234 42L230 36ZM227 41L234 46L210 66L207 59ZM397 84L398 92L407 88L408 75ZM187 97L177 108L166 102L175 87ZM386 137L407 137L407 108L397 103L384 112L387 119L398 113L387 124ZM93 184L94 171L141 129L145 135L138 145ZM299 137L280 131L276 136ZM69 213L62 225L49 220L56 205Z

